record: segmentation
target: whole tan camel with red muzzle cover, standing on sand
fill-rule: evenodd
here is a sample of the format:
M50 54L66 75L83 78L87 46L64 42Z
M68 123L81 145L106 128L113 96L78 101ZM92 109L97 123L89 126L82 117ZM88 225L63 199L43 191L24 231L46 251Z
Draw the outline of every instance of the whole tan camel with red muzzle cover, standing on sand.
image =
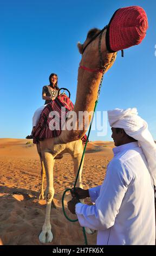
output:
M122 19L121 19L122 18ZM116 23L117 22L117 23ZM116 25L117 24L117 25ZM70 153L74 161L74 172L77 173L82 156L81 138L85 135L86 120L79 120L79 111L92 112L98 95L99 84L102 77L101 69L105 66L105 73L114 64L116 53L119 50L139 44L144 39L147 30L147 17L145 11L140 7L121 8L115 12L109 25L104 29L91 29L87 34L87 39L83 44L77 44L82 59L78 71L76 102L74 112L77 115L75 127L79 130L63 129L61 135L55 138L44 139L38 144L38 153L42 164L42 191L40 198L43 198L43 180L46 173L46 218L42 227L39 239L42 243L51 242L50 209L54 197L53 167L55 157L66 152ZM113 29L117 26L118 33ZM124 27L124 29L122 29ZM130 33L129 29L136 28L136 33ZM121 34L120 34L121 32ZM125 33L125 34L124 34ZM119 36L120 34L120 36ZM123 36L124 40L121 40ZM127 36L127 37L126 37ZM128 38L129 36L129 38ZM120 40L118 40L120 38ZM128 41L129 40L129 41ZM115 42L117 42L115 44ZM92 117L89 116L89 122ZM69 118L67 119L67 121ZM67 123L66 121L66 123ZM66 124L64 124L66 125ZM82 188L81 172L77 186Z

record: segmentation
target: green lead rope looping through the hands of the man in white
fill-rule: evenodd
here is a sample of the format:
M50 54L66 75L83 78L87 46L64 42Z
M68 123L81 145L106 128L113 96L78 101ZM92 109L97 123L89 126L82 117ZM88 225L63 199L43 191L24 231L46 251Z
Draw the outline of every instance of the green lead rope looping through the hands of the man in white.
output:
M94 107L93 117L92 117L92 121L91 121L91 123L90 123L89 131L88 131L88 136L87 136L87 141L86 141L85 147L84 147L84 149L83 149L83 154L82 154L80 166L79 166L79 169L78 169L78 171L77 171L77 175L76 175L76 179L75 179L75 184L74 184L74 189L75 189L75 187L76 187L77 179L79 178L79 173L80 173L80 169L81 169L81 166L82 166L82 161L83 161L83 158L84 158L84 156L85 156L85 151L86 151L86 147L87 147L87 143L88 143L88 138L89 138L89 135L90 135L90 131L91 131L91 128L92 128L93 119L94 119L94 114L95 114L95 110L96 110L97 104L98 104L98 100L95 101L95 107ZM67 216L66 211L65 211L65 208L64 208L64 197L65 197L65 195L66 195L66 193L67 193L68 191L71 191L71 189L70 189L70 188L67 188L67 190L65 190L64 193L63 193L63 195L62 195L62 209L63 209L63 214L64 214L64 216L67 218L68 221L70 221L70 222L76 222L76 221L78 221L78 219L76 219L76 220L70 219L70 218ZM83 227L82 230L83 230L83 236L84 236L84 239L85 239L85 245L88 245L85 227Z

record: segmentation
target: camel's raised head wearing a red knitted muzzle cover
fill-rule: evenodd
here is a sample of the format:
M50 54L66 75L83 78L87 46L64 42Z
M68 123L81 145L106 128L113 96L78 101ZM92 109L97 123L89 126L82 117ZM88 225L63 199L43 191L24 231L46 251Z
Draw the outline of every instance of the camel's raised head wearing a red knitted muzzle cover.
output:
M83 44L78 42L77 46L82 54L80 66L101 69L100 51L102 64L106 66L114 55L116 57L116 52L140 44L145 38L147 28L147 16L141 7L132 6L116 10L108 26L103 29L90 29L86 41ZM105 72L113 63L114 61Z

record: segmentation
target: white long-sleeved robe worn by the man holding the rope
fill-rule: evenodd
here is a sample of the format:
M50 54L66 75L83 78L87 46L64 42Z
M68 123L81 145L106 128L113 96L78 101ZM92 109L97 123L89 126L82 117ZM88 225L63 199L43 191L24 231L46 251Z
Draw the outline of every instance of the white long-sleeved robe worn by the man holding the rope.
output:
M82 227L98 230L97 245L155 245L154 188L138 142L113 149L103 184L90 188L95 205L76 204Z

